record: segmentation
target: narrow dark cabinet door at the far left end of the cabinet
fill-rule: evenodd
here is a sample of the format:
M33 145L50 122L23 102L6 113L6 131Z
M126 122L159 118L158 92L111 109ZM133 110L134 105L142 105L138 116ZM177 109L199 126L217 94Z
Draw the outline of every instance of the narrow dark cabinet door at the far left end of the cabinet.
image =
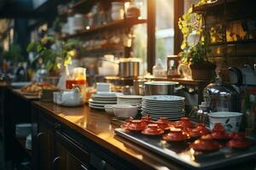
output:
M38 169L51 170L53 164L53 151L55 142L55 130L50 122L39 117L38 120ZM58 161L58 160L55 160Z

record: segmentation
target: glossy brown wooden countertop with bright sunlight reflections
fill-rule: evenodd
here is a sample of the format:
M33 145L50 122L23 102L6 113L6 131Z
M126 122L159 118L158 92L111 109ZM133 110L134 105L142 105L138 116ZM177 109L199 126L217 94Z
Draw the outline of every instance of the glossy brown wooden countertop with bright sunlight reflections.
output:
M68 108L52 103L34 101L33 105L41 108L49 116L73 128L100 144L107 150L124 158L142 169L183 169L174 162L165 160L143 147L133 144L126 139L116 136L114 129L117 127L111 123L111 117L105 111L90 109L88 105L83 107Z

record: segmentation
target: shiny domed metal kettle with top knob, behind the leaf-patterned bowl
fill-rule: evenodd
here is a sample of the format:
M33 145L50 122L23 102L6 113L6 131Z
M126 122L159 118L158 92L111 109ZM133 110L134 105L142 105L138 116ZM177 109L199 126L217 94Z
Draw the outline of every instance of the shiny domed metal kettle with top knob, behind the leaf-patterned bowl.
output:
M204 89L203 96L210 111L240 111L239 94L219 76Z

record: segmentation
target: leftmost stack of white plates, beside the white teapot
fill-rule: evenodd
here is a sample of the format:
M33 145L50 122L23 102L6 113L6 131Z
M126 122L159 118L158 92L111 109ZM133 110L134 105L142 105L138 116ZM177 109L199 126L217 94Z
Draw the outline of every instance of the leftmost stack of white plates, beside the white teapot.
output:
M92 94L89 99L89 106L94 109L105 110L105 105L116 105L117 95Z

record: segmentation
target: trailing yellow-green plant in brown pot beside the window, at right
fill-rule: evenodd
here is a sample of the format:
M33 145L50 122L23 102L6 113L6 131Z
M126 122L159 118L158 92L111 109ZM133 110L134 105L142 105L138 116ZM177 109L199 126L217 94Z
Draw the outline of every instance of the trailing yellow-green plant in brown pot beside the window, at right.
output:
M201 0L196 5L207 3ZM195 80L211 80L216 65L207 59L210 52L209 43L211 42L210 31L204 25L202 14L193 13L189 8L187 14L183 14L178 21L179 29L183 33L182 52L179 55L183 64L189 65L192 78Z

